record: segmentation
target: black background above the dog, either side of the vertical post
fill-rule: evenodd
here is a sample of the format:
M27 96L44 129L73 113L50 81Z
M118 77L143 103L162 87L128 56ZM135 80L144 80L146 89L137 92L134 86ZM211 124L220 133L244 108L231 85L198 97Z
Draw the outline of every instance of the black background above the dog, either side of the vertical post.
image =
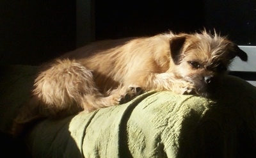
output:
M215 28L238 45L256 45L255 0L95 0L92 7L91 41ZM74 0L1 0L1 64L38 65L76 49L76 13Z

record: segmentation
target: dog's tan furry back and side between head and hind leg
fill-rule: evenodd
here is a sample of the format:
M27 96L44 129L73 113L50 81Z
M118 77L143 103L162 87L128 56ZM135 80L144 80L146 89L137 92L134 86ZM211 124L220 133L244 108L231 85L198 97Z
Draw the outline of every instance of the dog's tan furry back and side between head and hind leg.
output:
M163 34L145 38L124 38L95 42L68 52L62 59L76 59L88 70L100 90L118 84L132 84L145 72L164 72L170 67L172 35Z

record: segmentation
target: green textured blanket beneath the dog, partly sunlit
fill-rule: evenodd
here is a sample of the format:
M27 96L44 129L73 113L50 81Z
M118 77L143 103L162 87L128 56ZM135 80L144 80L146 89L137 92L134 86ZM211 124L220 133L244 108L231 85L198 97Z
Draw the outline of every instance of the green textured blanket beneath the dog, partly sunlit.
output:
M11 67L13 75L1 78L1 130L28 98L35 72ZM256 88L227 76L219 97L150 91L120 106L44 120L24 140L33 157L255 157Z

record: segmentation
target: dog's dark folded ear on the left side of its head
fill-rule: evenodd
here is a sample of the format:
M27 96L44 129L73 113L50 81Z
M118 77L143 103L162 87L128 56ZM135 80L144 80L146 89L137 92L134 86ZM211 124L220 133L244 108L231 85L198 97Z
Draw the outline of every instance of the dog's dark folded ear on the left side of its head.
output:
M182 46L184 45L186 41L186 36L175 36L171 38L170 40L170 51L171 51L171 56L173 59L173 62L175 65L179 65L180 62L180 53L182 51Z

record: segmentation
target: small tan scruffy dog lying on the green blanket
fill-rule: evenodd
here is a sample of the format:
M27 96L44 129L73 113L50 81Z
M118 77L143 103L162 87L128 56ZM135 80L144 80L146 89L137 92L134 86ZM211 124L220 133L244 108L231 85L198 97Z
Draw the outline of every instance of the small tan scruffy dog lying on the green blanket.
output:
M236 56L247 60L237 45L206 31L86 45L44 65L13 131L38 117L115 106L144 90L209 97Z

